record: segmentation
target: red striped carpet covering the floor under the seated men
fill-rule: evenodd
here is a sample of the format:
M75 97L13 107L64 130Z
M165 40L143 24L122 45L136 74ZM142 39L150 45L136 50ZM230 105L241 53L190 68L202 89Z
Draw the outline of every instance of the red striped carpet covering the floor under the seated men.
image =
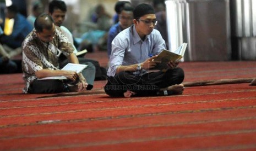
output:
M179 66L184 82L256 77L253 61ZM256 150L256 86L249 83L111 98L105 81L88 92L24 95L22 74L0 78L0 150Z

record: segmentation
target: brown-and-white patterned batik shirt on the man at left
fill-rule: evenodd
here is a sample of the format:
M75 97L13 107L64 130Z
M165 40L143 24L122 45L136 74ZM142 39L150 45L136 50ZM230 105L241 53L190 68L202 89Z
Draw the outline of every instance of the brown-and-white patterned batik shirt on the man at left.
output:
M64 36L61 29L57 26L53 40L49 43L42 42L37 36L35 30L25 38L22 49L22 69L25 88L23 92L28 93L30 83L37 77L35 72L41 69L59 69L58 56L63 53L70 55L74 48L68 38Z

